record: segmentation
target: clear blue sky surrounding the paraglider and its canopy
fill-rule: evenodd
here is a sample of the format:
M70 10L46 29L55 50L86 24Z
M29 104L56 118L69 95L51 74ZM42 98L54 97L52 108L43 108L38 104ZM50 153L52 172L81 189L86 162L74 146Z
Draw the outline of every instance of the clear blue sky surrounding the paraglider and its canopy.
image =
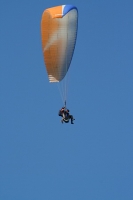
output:
M79 11L61 124L40 21ZM0 1L0 200L133 199L133 1Z

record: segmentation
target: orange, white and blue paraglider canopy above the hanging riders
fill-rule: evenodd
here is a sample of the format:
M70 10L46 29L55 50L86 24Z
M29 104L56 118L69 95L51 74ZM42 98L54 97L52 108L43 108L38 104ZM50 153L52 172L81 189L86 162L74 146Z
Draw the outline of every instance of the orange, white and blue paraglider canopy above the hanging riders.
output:
M74 53L78 10L72 5L46 9L42 14L41 36L44 62L49 82L66 76Z

